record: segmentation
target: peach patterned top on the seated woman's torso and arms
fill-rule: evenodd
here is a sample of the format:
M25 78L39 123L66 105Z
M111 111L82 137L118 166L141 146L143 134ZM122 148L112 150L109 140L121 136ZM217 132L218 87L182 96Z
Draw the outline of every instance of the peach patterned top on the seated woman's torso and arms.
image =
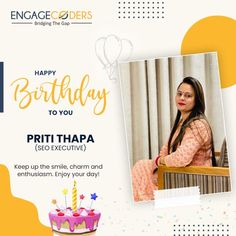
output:
M180 127L172 140L175 140ZM195 120L186 128L181 144L168 155L167 144L160 151L166 166L212 166L211 130L205 119Z

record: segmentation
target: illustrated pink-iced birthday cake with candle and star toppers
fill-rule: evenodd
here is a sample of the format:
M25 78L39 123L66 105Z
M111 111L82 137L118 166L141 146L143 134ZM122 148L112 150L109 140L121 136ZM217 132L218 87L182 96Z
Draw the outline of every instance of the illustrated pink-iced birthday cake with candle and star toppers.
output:
M63 190L65 202L67 192L67 189ZM54 235L95 235L101 216L99 211L91 209L92 203L96 198L96 193L91 194L90 207L77 207L77 189L76 182L74 182L72 190L72 207L58 207L56 200L52 200L52 203L56 205L56 208L49 212L49 220ZM83 199L84 195L82 194L80 195L80 205Z

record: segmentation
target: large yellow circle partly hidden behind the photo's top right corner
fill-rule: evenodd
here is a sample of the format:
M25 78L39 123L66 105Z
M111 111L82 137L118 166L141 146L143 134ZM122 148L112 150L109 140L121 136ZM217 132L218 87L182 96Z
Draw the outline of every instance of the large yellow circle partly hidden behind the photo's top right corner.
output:
M236 21L210 16L196 22L185 34L182 54L218 53L221 87L236 84Z

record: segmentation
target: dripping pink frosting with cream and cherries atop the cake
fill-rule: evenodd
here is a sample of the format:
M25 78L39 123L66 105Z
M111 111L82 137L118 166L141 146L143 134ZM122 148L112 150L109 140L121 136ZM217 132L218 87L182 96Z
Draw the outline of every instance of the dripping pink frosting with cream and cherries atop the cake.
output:
M61 211L51 211L49 213L49 219L51 226L53 227L53 222L56 223L57 229L61 229L61 224L65 223L66 221L69 223L70 231L74 232L75 227L82 224L83 221L85 222L86 228L89 231L94 230L94 224L96 222L96 227L98 226L98 221L100 219L101 213L80 208L75 213L72 212L71 209L61 210Z

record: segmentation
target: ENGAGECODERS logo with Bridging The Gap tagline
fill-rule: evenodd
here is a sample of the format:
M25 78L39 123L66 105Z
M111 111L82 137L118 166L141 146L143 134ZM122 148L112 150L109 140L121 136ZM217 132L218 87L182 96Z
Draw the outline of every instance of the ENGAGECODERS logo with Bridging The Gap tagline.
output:
M53 11L11 11L12 24L29 24L35 26L69 26L75 24L92 24L92 11L87 10L53 10Z

